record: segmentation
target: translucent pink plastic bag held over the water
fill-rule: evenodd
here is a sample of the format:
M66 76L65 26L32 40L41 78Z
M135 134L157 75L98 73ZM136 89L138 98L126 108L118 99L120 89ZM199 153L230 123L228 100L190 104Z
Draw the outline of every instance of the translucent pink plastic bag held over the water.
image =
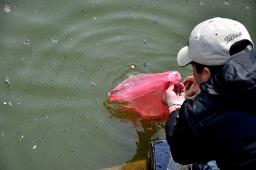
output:
M168 109L162 104L164 91L169 83L178 84L180 79L176 71L131 76L108 92L109 100L130 102L143 119L164 119L168 117Z

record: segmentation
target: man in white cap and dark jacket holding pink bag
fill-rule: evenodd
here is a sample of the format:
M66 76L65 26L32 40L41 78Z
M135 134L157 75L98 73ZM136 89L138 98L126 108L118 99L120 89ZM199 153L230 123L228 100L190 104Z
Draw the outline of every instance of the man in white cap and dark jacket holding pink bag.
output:
M180 164L207 164L220 170L256 168L256 51L246 28L212 18L191 32L178 65L193 76L170 84L162 102L170 116L166 140ZM193 99L185 100L185 90ZM200 167L199 167L200 168ZM201 167L202 168L202 167Z

